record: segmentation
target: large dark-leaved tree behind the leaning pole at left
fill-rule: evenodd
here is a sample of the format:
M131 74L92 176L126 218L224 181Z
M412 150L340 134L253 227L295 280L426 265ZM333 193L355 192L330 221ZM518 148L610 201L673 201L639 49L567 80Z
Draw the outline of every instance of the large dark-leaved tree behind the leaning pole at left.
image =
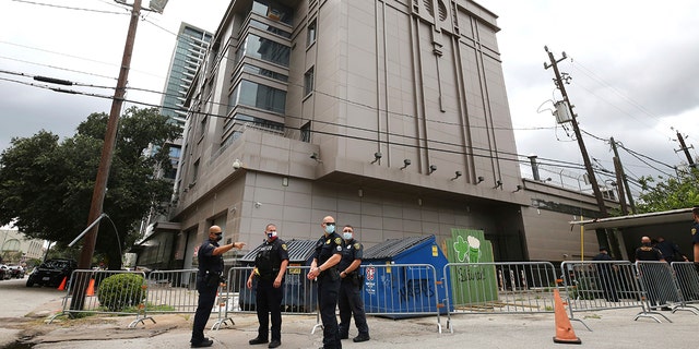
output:
M66 246L90 222L87 216L102 156L108 116L92 113L74 136L39 131L12 139L0 155L0 225L11 221L29 238ZM110 269L121 267L121 252L139 238L141 219L155 208L165 212L173 192L169 180L155 176L171 168L168 140L180 128L157 109L129 108L120 118L115 154L107 181L103 219L95 252L108 256ZM155 147L146 154L149 145Z

